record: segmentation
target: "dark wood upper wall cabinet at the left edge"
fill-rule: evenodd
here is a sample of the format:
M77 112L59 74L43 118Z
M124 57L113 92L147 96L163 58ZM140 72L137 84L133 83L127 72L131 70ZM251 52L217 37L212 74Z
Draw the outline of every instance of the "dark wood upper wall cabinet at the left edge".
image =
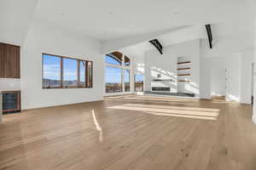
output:
M0 77L20 78L20 47L0 43Z

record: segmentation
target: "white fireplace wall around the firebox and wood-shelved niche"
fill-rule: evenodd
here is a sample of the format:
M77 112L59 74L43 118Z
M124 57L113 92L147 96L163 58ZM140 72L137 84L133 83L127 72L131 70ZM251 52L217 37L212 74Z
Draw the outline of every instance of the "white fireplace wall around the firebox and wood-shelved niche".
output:
M200 94L200 40L178 43L164 47L163 54L156 50L145 53L145 88L150 90L150 82L156 78L157 73L162 78L173 79L172 92L177 92L177 57L189 57L191 59L191 82L186 86L189 93Z

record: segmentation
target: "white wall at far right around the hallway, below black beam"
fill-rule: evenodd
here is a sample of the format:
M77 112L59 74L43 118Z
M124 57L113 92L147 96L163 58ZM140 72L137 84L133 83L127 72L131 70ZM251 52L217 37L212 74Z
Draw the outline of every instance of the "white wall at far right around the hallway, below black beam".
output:
M211 93L224 94L226 83L227 99L251 103L252 44L247 34L219 37L212 49L208 48L206 39L201 40L201 98L210 99ZM220 70L227 70L226 82L224 77L218 76ZM216 77L212 77L214 75Z

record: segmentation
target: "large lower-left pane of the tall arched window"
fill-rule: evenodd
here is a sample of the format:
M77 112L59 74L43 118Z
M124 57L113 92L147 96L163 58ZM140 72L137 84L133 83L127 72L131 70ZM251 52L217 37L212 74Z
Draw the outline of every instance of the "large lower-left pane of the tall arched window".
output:
M105 79L106 93L115 93L123 91L121 68L106 66Z

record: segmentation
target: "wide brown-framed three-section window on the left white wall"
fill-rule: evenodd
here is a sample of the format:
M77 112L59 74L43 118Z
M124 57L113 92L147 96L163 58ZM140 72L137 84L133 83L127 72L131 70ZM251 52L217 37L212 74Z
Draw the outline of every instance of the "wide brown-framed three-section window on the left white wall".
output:
M43 54L43 88L92 88L92 62Z

